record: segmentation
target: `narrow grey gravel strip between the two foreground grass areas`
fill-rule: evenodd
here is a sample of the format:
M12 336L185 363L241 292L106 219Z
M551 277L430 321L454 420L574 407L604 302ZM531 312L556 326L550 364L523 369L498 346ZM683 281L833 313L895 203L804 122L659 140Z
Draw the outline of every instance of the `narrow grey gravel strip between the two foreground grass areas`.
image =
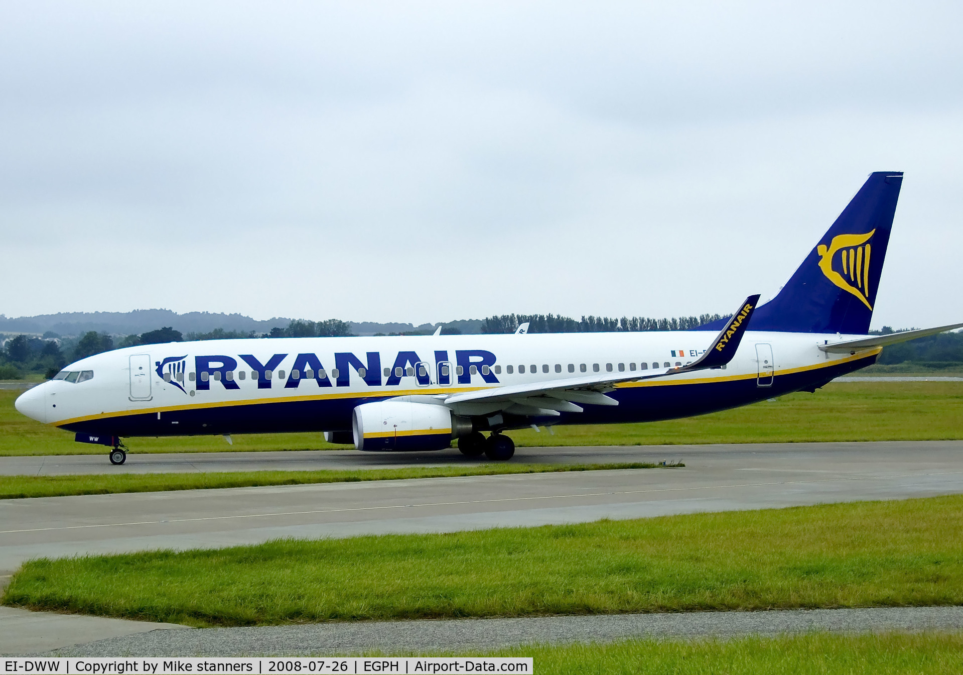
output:
M699 611L153 631L98 640L47 655L234 657L442 651L474 654L518 644L609 642L631 637L725 638L814 631L960 630L963 630L963 607Z

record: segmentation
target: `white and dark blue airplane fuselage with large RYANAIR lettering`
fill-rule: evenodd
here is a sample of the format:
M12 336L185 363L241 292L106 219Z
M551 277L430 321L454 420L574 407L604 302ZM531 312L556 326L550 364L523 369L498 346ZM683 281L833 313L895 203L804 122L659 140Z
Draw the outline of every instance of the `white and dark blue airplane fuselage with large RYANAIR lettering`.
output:
M483 401L450 407L481 429L685 418L812 391L871 365L879 348L840 355L818 346L860 337L749 331L724 369L616 384L608 395L618 405L584 404L554 417L497 419L500 406ZM712 338L673 331L170 342L69 365L64 372L90 375L62 373L66 379L29 392L21 410L69 431L117 437L347 431L362 403L440 402L432 397L607 372L641 376L695 361Z

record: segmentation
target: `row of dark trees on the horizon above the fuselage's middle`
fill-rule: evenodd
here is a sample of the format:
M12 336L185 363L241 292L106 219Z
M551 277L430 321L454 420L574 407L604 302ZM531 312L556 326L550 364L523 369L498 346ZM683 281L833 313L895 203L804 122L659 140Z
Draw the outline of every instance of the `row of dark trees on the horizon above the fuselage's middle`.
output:
M641 331L690 331L704 323L723 318L722 314L701 314L653 319L647 316L583 316L576 321L569 316L555 314L502 314L489 316L481 324L485 334L514 333L523 323L529 333L638 333Z

